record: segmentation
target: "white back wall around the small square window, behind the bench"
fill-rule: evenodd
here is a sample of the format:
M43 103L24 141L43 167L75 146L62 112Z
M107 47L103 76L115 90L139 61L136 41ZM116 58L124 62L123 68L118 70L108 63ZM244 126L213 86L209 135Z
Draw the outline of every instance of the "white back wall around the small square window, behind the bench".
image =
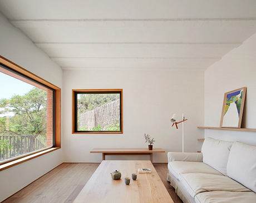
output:
M204 121L203 70L63 70L63 148L67 162L100 162L93 148L147 148L144 133L156 140L154 147L182 150L182 130L170 128L177 113L185 124L185 150L196 151L197 138L204 132L196 127ZM124 94L124 134L71 134L71 90L122 88ZM155 154L154 162L167 162L167 155ZM114 157L110 159L145 159ZM149 158L146 158L149 159Z

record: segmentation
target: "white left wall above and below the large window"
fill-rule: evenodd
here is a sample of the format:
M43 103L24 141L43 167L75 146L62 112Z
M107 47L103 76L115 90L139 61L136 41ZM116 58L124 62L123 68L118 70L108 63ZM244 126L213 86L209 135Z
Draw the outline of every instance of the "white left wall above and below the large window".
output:
M0 55L62 87L62 69L0 13ZM62 150L0 171L0 202L62 163Z

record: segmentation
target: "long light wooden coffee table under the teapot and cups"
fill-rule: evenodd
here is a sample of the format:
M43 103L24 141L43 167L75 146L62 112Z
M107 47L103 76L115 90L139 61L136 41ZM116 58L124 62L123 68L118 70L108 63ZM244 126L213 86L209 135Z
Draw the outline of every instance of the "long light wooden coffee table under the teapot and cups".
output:
M139 168L151 169L151 174L138 174ZM110 173L120 170L120 180ZM125 177L137 173L137 180L125 185ZM76 197L74 203L85 202L145 202L173 203L168 191L150 161L102 161L100 166Z

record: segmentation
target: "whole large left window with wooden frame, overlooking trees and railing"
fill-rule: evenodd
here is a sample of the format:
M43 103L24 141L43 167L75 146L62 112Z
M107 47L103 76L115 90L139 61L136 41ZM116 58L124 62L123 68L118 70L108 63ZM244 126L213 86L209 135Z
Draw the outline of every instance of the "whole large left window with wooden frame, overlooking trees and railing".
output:
M60 98L60 88L0 57L0 170L60 148Z

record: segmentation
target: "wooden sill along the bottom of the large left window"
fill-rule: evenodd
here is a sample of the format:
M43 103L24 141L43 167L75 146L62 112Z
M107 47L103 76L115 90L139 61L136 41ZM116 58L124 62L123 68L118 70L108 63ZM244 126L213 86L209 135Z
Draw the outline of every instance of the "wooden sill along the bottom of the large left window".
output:
M11 161L11 162L9 162L9 163L0 165L0 171L2 171L2 170L4 170L4 169L11 168L12 166L21 164L21 163L23 163L23 162L25 162L25 161L28 161L28 160L31 160L31 159L35 159L35 158L37 158L38 156L41 156L41 155L50 153L50 152L55 151L55 150L57 150L57 149L61 149L61 148L46 149L46 150L40 151L40 152L38 152L38 153L36 153L36 154L32 154L32 155L29 155L29 156L25 156L25 157L23 157L23 158L21 158L21 159L17 159L17 160Z

